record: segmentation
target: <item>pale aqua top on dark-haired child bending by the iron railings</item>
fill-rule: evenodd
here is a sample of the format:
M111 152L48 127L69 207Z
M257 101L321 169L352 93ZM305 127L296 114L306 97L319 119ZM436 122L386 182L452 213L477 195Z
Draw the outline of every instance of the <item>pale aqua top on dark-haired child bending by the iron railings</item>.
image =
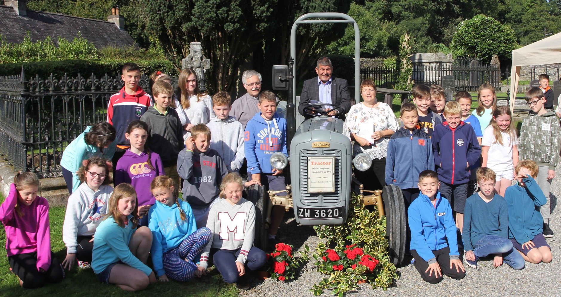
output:
M84 132L70 142L70 145L68 145L62 153L61 166L72 173L72 192L75 192L80 185L80 179L76 171L82 166L83 160L93 156L104 157L111 160L113 159L113 154L115 154L115 141L113 141L107 149L103 149L103 152L99 151L99 147L88 145L84 140L84 136L90 132L90 129L91 126L86 127Z

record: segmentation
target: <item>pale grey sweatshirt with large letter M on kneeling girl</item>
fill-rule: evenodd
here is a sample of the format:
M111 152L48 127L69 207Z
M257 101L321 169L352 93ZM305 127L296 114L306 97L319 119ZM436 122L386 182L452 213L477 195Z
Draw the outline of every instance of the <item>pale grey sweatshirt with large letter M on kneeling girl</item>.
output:
M232 205L226 199L220 199L210 208L206 227L212 231L212 236L201 254L201 267L208 267L210 248L235 250L241 247L236 262L245 264L255 237L253 203L241 198Z

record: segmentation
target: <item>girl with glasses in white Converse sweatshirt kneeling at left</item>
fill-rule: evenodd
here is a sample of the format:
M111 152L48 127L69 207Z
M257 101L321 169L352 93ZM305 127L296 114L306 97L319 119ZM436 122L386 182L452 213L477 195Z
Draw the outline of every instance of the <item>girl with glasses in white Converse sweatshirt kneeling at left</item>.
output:
M91 157L82 162L78 170L82 182L68 197L65 223L62 226L62 240L66 244L66 258L62 266L71 270L78 262L80 268L90 268L91 250L94 248L94 233L107 214L107 202L113 187L109 183L111 161Z

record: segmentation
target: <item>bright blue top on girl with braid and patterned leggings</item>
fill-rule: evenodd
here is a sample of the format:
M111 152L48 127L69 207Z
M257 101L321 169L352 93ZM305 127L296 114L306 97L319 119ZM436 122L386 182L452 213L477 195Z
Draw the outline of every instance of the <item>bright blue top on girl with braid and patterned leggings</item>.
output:
M180 200L181 209L185 212L187 219L181 220L181 212L177 203L167 206L156 201L150 208L148 216L150 222L148 228L152 231L152 263L157 276L164 275L163 255L168 250L177 248L178 245L197 230L195 216L189 203Z

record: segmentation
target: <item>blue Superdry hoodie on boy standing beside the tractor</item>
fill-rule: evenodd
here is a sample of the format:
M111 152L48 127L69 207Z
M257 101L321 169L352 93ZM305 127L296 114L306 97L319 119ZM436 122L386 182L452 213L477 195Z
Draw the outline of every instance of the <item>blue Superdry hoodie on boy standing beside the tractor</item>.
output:
M256 113L247 122L243 149L247 160L247 171L251 174L273 173L270 159L274 152L283 152L288 156L286 149L286 119L278 113L270 121Z

